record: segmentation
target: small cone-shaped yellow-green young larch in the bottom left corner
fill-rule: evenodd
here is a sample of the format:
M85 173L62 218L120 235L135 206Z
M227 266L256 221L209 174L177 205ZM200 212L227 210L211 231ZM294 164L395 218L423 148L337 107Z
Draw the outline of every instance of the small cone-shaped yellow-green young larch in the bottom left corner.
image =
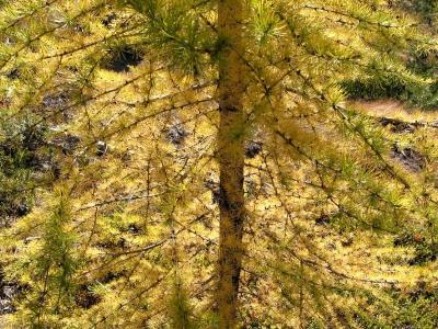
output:
M69 231L72 220L69 192L55 191L55 204L42 225L41 238L24 249L26 257L11 266L13 275L26 286L23 308L19 308L18 322L33 328L59 328L62 318L74 306L73 275L79 265L74 252L74 236Z

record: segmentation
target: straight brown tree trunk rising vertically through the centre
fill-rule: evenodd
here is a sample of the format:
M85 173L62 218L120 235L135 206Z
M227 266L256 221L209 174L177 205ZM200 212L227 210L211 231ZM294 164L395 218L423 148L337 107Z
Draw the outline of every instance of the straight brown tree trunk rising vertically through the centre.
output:
M218 161L220 167L220 232L217 306L220 328L234 328L242 262L243 194L243 0L218 1L219 57Z

